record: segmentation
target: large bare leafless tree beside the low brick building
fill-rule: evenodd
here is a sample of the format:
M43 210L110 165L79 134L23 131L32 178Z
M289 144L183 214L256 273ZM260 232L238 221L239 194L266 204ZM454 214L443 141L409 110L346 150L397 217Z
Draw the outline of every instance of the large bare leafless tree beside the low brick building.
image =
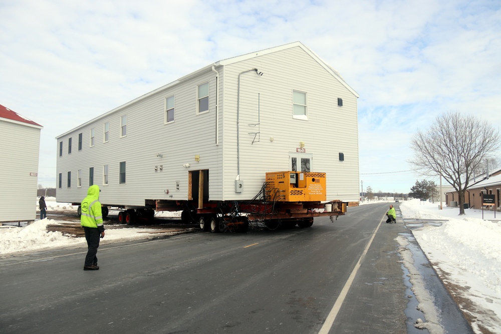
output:
M459 214L464 214L464 192L471 174L501 146L499 129L473 116L448 112L426 131L417 131L409 163L423 175L441 175L458 193Z

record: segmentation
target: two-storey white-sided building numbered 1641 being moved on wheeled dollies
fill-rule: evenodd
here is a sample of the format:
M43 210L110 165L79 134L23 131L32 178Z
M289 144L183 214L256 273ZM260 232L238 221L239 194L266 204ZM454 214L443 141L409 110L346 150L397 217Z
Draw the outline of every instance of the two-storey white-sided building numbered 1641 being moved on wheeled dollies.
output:
M105 206L245 201L304 171L358 205L357 98L300 42L218 61L58 136L57 201L92 184Z

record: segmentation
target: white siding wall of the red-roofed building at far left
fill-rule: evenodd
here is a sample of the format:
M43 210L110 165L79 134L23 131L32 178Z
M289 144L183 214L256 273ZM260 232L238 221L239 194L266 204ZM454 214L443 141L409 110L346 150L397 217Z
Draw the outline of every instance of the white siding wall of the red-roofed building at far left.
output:
M40 129L0 121L0 222L36 218Z

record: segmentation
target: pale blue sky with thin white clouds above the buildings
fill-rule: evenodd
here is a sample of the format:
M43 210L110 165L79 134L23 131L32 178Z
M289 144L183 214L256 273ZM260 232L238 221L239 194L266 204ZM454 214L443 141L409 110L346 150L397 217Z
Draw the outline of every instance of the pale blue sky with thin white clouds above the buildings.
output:
M360 179L410 191L417 129L447 111L501 125L499 1L0 0L0 104L55 137L218 60L300 41L360 95Z

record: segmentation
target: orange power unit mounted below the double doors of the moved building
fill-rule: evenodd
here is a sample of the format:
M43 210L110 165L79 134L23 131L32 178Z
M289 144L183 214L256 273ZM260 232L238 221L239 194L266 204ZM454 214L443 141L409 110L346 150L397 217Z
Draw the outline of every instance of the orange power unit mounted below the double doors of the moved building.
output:
M318 202L327 199L325 173L266 173L266 193L270 202Z

